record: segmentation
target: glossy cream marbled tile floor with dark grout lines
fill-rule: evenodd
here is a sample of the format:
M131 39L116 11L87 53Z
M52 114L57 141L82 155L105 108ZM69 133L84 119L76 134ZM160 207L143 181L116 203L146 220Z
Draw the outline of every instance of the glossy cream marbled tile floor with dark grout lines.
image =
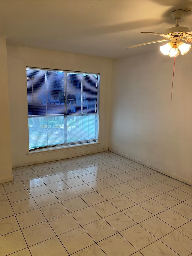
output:
M0 255L192 255L192 187L112 152L13 169Z

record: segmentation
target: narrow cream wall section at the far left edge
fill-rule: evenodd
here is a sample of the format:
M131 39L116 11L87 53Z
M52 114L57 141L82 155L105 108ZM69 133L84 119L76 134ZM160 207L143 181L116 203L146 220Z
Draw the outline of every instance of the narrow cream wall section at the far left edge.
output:
M12 181L6 38L0 38L0 183Z

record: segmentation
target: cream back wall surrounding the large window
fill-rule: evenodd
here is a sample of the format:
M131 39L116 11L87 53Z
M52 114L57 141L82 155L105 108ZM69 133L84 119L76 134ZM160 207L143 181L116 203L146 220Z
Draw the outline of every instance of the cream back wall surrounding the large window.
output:
M108 150L112 60L27 47L7 46L13 167ZM26 66L101 74L98 145L28 155Z

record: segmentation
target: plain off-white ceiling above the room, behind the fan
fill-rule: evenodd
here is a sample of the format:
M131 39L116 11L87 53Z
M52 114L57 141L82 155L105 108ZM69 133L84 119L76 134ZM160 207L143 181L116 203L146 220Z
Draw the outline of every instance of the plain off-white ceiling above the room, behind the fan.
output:
M190 8L190 0L1 0L0 34L11 45L118 58L156 50L164 43L127 47L161 39L140 32L164 33L175 26L171 11ZM191 13L179 23L190 31Z

